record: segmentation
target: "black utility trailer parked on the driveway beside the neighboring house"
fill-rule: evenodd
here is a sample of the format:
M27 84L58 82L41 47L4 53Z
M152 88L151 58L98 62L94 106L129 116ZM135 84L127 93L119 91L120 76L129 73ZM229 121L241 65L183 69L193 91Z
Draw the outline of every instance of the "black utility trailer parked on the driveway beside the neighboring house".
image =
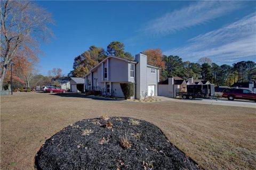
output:
M214 96L214 84L187 85L187 92L180 92L182 99L211 98Z

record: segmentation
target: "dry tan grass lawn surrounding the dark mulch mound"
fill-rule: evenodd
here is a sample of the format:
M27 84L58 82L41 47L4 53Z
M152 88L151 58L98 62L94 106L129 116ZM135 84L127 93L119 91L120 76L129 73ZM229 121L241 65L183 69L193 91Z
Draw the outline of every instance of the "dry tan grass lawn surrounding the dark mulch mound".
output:
M205 169L256 169L254 108L161 101L103 101L54 94L1 96L1 169L34 169L46 139L85 118L144 119Z

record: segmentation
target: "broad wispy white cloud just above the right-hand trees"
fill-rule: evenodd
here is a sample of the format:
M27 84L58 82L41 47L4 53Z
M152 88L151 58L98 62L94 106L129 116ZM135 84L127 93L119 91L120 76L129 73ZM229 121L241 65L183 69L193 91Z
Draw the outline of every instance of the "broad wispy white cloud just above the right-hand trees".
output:
M185 60L197 61L202 56L215 62L232 63L238 60L256 60L256 13L247 15L230 25L189 39L188 45L164 52L179 55Z

